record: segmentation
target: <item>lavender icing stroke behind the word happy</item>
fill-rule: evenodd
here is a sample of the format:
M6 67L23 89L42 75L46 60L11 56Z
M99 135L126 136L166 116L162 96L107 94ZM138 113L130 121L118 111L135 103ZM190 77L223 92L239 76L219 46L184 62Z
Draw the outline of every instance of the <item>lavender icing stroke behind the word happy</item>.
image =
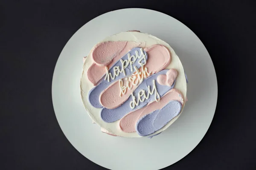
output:
M137 48L133 48L131 51L129 51L128 53L132 55L136 55L135 54L135 51L138 51L139 52L139 55L141 54L140 52L140 48L137 47ZM148 59L148 54L143 50L144 54L145 54L145 58ZM125 59L128 59L128 53L125 54L125 56L122 57L122 60L125 60ZM136 66L137 68L140 68L141 65L139 64L139 58L137 58L137 60L134 62L133 64L133 67ZM141 61L142 63L144 61L144 59ZM109 73L111 73L112 75L114 75L114 72L113 72L113 68L115 66L119 66L120 69L122 69L122 63L119 61L117 61L111 68L109 68ZM133 68L133 71L130 70L131 69L131 65L129 65L127 68L125 68L125 72L126 72L126 76L128 75L131 75L135 72L135 69ZM106 75L106 74L105 74ZM103 90L105 90L106 88L108 88L109 85L111 85L113 82L119 80L119 79L122 79L125 77L125 75L123 73L120 73L119 76L116 76L115 79L110 79L110 82L108 82L108 80L104 80L105 79L105 75L102 77L102 79L100 80L99 84L92 88L90 91L89 91L89 94L88 94L88 101L90 102L90 104L94 107L94 108L102 108L102 105L100 104L99 102L99 95L101 94L101 92Z

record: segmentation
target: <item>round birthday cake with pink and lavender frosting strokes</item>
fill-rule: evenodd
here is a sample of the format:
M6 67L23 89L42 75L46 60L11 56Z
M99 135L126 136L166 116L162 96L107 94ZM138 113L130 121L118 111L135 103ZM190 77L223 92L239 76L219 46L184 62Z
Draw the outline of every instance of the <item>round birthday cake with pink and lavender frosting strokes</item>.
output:
M81 99L93 123L112 136L152 137L186 102L186 74L171 46L150 34L106 37L84 57Z

